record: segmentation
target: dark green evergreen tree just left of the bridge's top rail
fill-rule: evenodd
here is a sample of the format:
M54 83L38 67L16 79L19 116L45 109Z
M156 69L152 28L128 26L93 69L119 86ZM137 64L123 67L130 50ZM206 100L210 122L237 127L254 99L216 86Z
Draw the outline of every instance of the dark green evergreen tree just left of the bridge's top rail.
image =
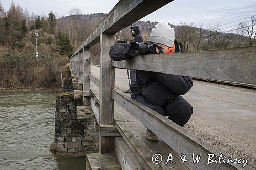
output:
M57 49L61 56L67 55L71 57L73 54L73 46L71 45L71 41L68 37L68 34L63 34L60 31L58 32L58 42Z

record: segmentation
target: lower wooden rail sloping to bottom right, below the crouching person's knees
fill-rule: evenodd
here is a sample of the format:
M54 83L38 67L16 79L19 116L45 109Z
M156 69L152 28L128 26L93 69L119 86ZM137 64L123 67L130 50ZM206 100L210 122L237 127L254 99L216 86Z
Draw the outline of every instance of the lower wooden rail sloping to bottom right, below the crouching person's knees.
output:
M242 164L234 163L207 164L208 154L217 156L212 158L214 160L218 160L221 154L226 157L222 157L220 160L227 160L230 155L129 96L124 95L121 90L113 89L112 98L116 103L135 116L144 126L153 131L160 139L178 152L178 154L187 154L186 158L188 162L193 163L193 153L196 155L201 154L200 162L194 164L197 169L252 169L247 165L243 168Z

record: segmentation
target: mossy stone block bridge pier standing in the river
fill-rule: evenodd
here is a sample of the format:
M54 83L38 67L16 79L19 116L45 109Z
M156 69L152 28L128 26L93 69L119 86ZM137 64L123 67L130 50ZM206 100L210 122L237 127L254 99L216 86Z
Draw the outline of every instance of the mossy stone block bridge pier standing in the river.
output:
M83 112L84 116L77 116ZM81 115L81 114L79 114ZM99 133L90 106L82 106L82 97L65 92L56 97L54 146L57 155L85 155L99 152Z

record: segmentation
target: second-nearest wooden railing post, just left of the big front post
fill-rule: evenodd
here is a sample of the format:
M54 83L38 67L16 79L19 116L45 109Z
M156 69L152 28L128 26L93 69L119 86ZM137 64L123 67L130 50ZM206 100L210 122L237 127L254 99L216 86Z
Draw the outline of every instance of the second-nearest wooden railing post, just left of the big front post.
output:
M89 75L91 72L90 48L83 48L83 105L90 105L90 79Z

